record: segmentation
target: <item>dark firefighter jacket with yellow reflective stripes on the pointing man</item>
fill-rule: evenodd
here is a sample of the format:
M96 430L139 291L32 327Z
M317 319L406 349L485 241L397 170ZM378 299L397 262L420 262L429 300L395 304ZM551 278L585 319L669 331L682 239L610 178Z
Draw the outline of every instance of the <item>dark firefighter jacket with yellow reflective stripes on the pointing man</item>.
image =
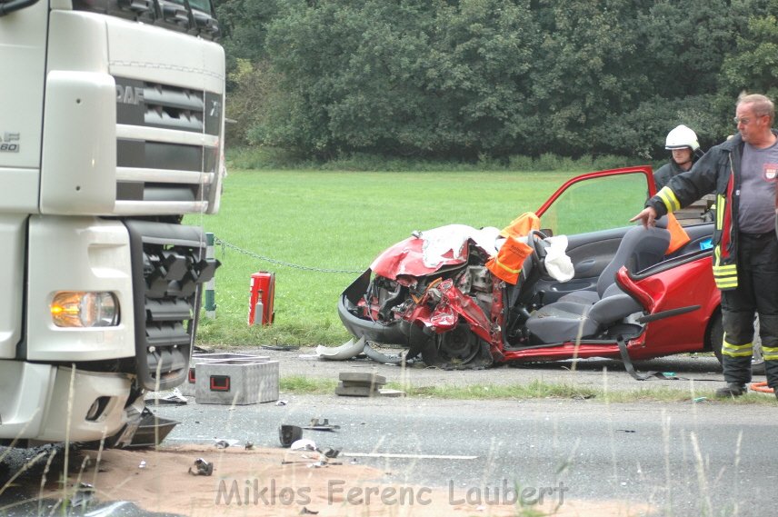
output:
M774 134L778 134L773 130ZM646 202L657 217L675 212L703 197L716 194L713 229L713 278L722 290L737 288L737 209L740 197L743 138L732 138L711 148L693 167L670 180Z

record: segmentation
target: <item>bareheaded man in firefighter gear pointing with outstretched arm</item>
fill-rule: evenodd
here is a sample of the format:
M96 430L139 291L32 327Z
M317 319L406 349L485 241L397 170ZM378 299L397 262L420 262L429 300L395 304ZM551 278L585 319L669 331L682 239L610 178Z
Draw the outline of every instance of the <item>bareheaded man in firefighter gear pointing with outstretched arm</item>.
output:
M742 96L735 108L738 133L703 155L649 199L632 221L653 225L668 212L716 193L713 278L722 292L723 373L720 397L737 397L751 382L753 319L759 314L767 384L778 397L778 237L775 178L778 131L775 108L764 95Z

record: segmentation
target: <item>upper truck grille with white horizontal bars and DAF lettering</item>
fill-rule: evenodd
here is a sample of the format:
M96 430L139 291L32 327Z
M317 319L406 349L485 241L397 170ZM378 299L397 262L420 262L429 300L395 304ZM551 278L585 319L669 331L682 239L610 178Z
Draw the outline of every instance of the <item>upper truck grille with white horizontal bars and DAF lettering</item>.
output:
M115 80L115 214L207 212L219 173L222 96Z

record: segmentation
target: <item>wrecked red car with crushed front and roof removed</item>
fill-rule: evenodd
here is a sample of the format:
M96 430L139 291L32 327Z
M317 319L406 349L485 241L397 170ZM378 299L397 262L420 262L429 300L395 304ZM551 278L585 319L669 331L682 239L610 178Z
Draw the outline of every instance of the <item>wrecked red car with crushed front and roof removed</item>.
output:
M529 214L535 224L524 235L462 224L414 232L344 290L341 320L357 338L453 368L622 353L720 357L713 224L702 213L683 222L677 249L667 226L679 225L629 224L654 191L648 166L584 174ZM500 263L506 243L525 250L514 255L518 267Z

